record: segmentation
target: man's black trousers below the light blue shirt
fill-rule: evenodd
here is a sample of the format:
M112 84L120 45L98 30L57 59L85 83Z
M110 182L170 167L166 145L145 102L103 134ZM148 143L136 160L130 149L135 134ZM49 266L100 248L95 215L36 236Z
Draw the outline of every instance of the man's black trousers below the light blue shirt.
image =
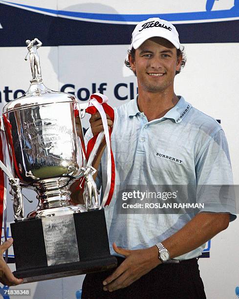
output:
M117 257L118 265L124 258ZM113 292L103 291L107 272L87 274L82 286L82 299L205 299L196 258L180 263L161 264L130 286Z

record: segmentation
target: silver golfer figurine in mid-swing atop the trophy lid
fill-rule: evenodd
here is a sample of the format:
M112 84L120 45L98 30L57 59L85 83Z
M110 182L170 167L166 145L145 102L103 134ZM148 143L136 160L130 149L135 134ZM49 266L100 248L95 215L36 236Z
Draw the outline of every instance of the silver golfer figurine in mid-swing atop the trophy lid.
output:
M32 72L32 80L30 82L33 83L42 83L42 70L40 65L40 57L38 55L37 49L42 46L42 42L35 38L34 40L26 40L27 44L27 50L28 53L26 54L26 57L28 54L30 54L30 66L31 66L31 72ZM25 57L25 61L27 61L27 58Z

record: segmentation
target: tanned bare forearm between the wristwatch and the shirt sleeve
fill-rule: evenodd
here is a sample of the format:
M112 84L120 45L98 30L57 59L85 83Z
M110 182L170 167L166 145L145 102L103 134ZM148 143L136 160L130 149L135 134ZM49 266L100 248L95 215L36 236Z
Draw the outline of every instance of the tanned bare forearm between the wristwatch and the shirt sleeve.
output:
M222 213L199 213L162 244L169 251L171 258L186 254L226 229L229 217L229 214Z

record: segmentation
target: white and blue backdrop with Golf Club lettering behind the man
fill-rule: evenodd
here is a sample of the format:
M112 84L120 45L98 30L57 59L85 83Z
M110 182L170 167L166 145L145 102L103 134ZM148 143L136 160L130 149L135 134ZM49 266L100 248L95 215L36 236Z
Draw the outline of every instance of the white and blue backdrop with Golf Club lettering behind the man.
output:
M188 60L175 78L176 94L220 120L239 184L239 0L0 0L0 109L28 88L25 40L35 37L43 42L38 51L45 85L72 92L80 102L97 91L109 97L111 106L130 101L137 83L124 59L135 24L151 16L175 24ZM36 205L26 204L26 212ZM7 207L10 223L9 196ZM239 297L238 226L236 220L208 242L205 258L199 259L209 299ZM14 263L9 266L14 270ZM83 278L20 287L30 288L36 299L80 298Z

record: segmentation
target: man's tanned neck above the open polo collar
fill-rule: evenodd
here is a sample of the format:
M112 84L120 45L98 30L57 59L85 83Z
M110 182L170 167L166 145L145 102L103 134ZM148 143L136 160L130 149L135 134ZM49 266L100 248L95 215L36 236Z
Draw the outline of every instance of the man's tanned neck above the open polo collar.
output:
M139 89L138 108L144 112L148 121L163 117L178 102L173 91L148 92Z

